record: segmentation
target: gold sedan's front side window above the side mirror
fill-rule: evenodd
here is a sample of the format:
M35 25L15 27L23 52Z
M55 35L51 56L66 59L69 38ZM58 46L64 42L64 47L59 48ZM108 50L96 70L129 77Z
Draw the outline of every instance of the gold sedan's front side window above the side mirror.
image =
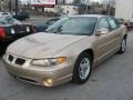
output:
M99 22L98 29L102 29L102 28L110 29L110 24L109 24L106 18L101 18L101 19L100 19L100 22Z

